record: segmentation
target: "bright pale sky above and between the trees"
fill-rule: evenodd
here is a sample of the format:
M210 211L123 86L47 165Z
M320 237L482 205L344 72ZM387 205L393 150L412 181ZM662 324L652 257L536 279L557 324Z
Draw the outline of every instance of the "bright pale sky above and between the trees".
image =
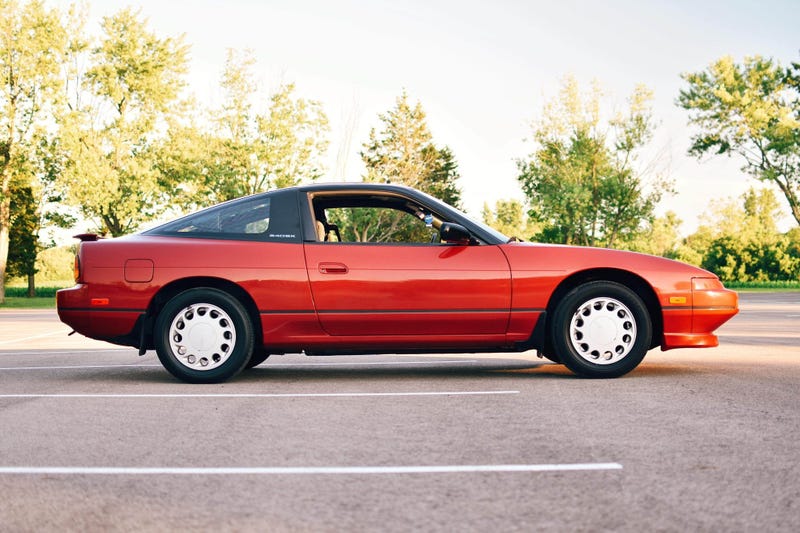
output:
M52 5L65 6L63 0ZM800 61L798 0L93 0L89 30L123 7L140 8L161 37L185 34L192 91L219 103L227 48L252 49L269 90L294 82L331 122L329 174L359 180L358 152L378 114L405 89L427 113L434 141L458 161L467 210L523 195L514 160L531 145L530 123L574 74L597 79L625 105L637 83L655 91L660 122L643 164L675 182L659 212L690 233L712 198L736 197L755 180L738 160L686 155L687 114L675 106L682 72L729 54ZM354 126L353 126L354 124ZM351 132L351 135L348 135ZM348 148L347 139L351 138ZM347 157L337 153L344 150ZM654 155L657 154L657 155ZM337 170L338 169L338 170ZM342 173L342 169L344 172ZM783 202L782 196L779 196ZM784 209L788 211L788 209Z

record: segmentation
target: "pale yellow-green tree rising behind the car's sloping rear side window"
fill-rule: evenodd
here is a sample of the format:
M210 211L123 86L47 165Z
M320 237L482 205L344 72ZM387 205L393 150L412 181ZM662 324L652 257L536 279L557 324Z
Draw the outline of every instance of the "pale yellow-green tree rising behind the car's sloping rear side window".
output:
M260 109L255 64L251 52L228 50L221 108L209 121L174 124L160 151L160 167L179 184L187 208L314 181L324 172L329 126L322 105L284 84Z

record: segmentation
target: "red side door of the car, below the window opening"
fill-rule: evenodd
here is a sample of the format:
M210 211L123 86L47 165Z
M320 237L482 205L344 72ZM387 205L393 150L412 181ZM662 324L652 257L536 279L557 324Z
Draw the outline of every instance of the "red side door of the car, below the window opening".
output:
M304 246L316 311L330 335L506 333L511 276L498 246L431 242L306 242Z

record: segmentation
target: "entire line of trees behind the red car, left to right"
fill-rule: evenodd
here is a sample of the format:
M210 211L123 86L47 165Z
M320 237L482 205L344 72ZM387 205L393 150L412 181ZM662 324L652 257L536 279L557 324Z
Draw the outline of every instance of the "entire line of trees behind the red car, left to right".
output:
M228 51L222 103L204 107L186 95L183 37L156 35L131 9L104 18L96 36L86 20L85 7L62 13L41 0L0 0L0 303L9 275L28 277L33 289L37 254L48 245L39 238L43 228L72 227L80 219L118 236L168 210L184 212L327 172L330 128L322 105L300 97L291 83L259 96L251 52ZM778 186L800 223L800 66L723 58L684 80L677 104L695 128L690 153L741 158L756 179ZM533 151L517 161L524 201L486 206L488 223L526 240L679 257L723 276L797 277L794 233L752 237L761 252L750 241L725 240L726 234L703 228L702 235L698 230L685 241L655 246L679 222L654 216L670 182L639 160L656 127L652 92L635 88L627 109L613 116L601 96L597 87L583 94L574 79L565 80L532 124ZM455 155L434 142L421 104L404 91L377 123L359 152L362 179L407 184L458 206ZM776 206L763 194L743 200L756 217L744 227L775 216ZM715 216L728 213L719 209ZM365 236L375 223L351 222ZM688 251L695 243L702 243L696 244L702 257ZM767 248L783 255L770 263ZM754 257L764 266L750 273L741 264Z

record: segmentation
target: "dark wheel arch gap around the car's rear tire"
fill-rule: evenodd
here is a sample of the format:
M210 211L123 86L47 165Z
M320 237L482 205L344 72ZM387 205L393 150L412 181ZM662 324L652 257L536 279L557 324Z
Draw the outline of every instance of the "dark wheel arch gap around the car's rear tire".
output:
M261 329L261 315L258 311L255 301L253 300L252 296L250 296L250 293L244 290L240 285L227 279L196 276L191 278L182 278L164 285L150 300L150 304L147 306L147 311L145 312L144 320L141 325L142 329L139 337L140 353L144 353L145 349L155 348L155 342L153 340L153 328L155 326L156 317L158 317L158 313L164 307L164 304L183 291L200 287L220 290L228 293L230 296L238 300L247 310L247 314L253 324L253 333L255 335L253 341L255 346L262 346L264 344L264 334Z

